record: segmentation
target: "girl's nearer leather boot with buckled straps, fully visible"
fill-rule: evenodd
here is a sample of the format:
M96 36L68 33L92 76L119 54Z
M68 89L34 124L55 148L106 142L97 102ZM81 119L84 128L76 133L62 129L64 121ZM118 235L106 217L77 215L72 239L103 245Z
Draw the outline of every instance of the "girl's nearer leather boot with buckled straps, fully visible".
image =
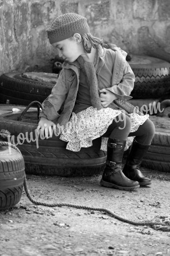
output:
M101 186L129 190L139 187L139 183L131 181L122 172L122 158L126 140L111 139L107 145L106 168L100 181Z

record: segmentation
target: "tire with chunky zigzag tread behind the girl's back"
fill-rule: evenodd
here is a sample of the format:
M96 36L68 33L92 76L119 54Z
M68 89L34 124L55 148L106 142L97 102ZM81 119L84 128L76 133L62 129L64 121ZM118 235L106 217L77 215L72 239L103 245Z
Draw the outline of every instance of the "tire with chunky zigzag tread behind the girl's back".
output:
M170 93L170 63L150 56L132 55L133 98L159 98Z

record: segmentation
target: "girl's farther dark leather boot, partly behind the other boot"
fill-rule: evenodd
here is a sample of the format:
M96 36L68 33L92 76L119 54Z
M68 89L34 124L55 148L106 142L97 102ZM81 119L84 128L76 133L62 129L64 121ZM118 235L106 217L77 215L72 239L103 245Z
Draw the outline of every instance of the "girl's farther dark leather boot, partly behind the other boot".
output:
M151 180L146 178L139 170L139 165L149 147L150 145L140 144L134 139L128 159L123 168L123 173L132 181L138 181L140 186L151 184Z

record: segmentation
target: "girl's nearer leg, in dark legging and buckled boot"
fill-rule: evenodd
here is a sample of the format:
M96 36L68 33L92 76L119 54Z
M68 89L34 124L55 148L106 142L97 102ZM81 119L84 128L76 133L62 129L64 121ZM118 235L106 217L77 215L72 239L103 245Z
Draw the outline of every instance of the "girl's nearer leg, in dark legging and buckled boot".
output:
M130 118L121 114L113 120L107 132L102 135L109 137L106 168L100 181L102 186L126 190L139 187L138 182L128 179L122 172L122 158L130 130Z

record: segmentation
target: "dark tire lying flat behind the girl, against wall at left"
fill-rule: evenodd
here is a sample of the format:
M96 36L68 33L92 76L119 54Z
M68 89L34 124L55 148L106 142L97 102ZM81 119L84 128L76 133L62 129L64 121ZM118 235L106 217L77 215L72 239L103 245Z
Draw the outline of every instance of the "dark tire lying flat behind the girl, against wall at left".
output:
M54 84L22 77L22 73L5 73L0 76L0 103L28 105L42 103L51 93Z

